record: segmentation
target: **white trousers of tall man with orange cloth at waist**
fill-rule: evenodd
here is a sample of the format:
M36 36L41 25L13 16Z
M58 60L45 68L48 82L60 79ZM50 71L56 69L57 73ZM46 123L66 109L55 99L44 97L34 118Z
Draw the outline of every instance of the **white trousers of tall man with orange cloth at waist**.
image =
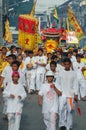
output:
M73 128L73 112L68 98L59 97L59 128L62 126L65 126L67 130Z

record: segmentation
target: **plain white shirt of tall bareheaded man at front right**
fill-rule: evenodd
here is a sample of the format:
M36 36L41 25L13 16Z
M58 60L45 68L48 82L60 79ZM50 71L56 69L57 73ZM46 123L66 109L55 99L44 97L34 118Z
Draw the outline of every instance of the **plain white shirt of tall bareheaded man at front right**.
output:
M78 79L75 71L63 70L59 73L58 82L62 87L62 95L65 97L74 97L78 93Z

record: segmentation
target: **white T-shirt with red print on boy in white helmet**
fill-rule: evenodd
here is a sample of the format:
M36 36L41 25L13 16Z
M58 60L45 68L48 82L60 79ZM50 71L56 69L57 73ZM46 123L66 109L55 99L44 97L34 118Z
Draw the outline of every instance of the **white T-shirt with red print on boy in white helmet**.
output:
M55 85L59 90L59 85ZM42 85L39 95L43 96L42 113L58 112L58 95L50 84L45 83Z

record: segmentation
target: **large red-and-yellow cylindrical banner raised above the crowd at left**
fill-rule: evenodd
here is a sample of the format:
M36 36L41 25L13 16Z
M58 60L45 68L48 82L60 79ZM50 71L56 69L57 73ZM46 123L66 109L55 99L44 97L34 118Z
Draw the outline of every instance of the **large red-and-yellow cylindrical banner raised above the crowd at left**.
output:
M18 19L18 44L23 49L33 50L37 46L38 20L29 14L20 15Z

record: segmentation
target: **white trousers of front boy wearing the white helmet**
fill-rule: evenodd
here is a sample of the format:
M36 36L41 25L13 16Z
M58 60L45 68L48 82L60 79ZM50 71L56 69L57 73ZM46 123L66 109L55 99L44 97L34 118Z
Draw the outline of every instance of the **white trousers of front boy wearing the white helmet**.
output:
M56 119L57 114L56 113L44 113L44 123L46 126L46 130L56 130Z

